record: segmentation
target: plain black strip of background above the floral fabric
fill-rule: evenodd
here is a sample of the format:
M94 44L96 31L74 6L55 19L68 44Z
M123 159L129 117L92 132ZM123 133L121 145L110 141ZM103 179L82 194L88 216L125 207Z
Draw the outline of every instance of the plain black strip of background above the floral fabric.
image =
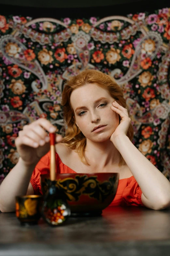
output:
M0 0L1 15L19 15L50 18L89 18L152 12L169 7L168 0Z

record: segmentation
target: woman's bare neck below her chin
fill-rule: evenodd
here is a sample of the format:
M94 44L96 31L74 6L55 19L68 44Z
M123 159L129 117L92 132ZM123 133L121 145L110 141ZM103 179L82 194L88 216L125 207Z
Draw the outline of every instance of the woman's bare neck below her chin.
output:
M110 141L93 142L87 139L85 157L92 166L105 168L108 165L118 165L120 153Z

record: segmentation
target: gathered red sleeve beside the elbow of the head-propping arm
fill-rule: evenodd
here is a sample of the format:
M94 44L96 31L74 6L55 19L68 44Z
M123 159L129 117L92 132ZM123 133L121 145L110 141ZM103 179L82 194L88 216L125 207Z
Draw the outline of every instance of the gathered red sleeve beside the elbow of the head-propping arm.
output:
M141 200L142 190L136 182L134 176L130 177L127 186L125 187L122 199L128 206L144 206Z

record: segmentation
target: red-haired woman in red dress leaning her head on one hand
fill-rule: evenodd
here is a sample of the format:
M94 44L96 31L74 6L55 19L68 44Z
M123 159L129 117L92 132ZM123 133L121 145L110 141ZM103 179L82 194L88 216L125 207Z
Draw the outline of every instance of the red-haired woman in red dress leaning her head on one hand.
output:
M111 205L170 206L170 183L133 145L133 128L123 92L100 71L84 70L65 84L62 94L65 137L56 136L57 172L119 172ZM0 186L0 210L15 210L16 195L41 194L40 174L49 173L46 119L25 125L15 141L20 158Z

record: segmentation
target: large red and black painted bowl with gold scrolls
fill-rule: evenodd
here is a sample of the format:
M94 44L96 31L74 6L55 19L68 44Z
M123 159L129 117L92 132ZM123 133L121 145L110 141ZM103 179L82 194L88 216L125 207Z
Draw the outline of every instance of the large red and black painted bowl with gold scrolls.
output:
M43 195L48 193L50 175L40 177ZM72 216L100 215L114 199L119 173L58 173L55 186L70 206Z

